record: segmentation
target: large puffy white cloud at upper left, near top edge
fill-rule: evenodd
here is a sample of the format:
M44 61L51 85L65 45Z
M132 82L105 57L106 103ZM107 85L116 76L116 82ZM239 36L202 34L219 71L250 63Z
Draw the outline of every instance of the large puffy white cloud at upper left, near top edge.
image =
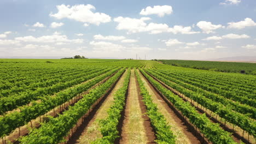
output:
M56 14L51 13L51 17L57 19L68 18L75 21L92 23L94 25L100 25L100 23L106 23L111 21L111 17L104 13L94 13L95 7L91 4L79 4L73 5L57 5L58 12Z

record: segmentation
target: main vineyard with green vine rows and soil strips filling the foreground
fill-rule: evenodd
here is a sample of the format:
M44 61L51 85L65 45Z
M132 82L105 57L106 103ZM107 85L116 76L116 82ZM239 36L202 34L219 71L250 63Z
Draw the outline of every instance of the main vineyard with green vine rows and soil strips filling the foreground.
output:
M0 59L0 143L256 143L255 64L163 62Z

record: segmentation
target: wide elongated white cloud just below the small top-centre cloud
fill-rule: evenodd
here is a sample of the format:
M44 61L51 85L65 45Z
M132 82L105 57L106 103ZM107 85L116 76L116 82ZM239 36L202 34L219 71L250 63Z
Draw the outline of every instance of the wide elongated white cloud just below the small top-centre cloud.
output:
M149 32L150 34L158 34L163 32L168 33L181 33L181 34L194 34L199 32L194 32L191 27L183 26L173 26L169 27L165 23L153 23L147 24L145 21L151 20L149 17L141 17L141 19L132 19L130 17L117 17L114 19L118 22L118 30L127 30L128 33L138 33L138 32Z

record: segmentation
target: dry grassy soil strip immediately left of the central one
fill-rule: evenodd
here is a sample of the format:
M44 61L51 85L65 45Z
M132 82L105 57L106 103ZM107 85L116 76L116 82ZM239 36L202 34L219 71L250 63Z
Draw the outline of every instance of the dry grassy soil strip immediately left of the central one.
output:
M127 71L125 71L123 76L121 76L120 80L117 82L113 90L109 93L106 100L103 101L100 108L97 109L95 115L92 117L91 121L85 127L76 143L91 143L92 141L102 137L100 126L98 125L98 119L103 119L108 116L107 110L113 104L114 93L117 92L118 89L123 86L123 82L126 75Z

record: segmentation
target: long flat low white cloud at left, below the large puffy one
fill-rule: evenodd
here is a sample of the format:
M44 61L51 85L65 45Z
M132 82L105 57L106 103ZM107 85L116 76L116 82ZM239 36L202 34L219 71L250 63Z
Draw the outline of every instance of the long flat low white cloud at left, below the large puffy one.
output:
M34 43L57 43L57 42L68 42L68 43L83 43L83 39L68 39L66 35L60 35L60 33L54 33L53 35L44 35L42 37L33 37L32 35L26 37L17 37L15 40L34 42Z

